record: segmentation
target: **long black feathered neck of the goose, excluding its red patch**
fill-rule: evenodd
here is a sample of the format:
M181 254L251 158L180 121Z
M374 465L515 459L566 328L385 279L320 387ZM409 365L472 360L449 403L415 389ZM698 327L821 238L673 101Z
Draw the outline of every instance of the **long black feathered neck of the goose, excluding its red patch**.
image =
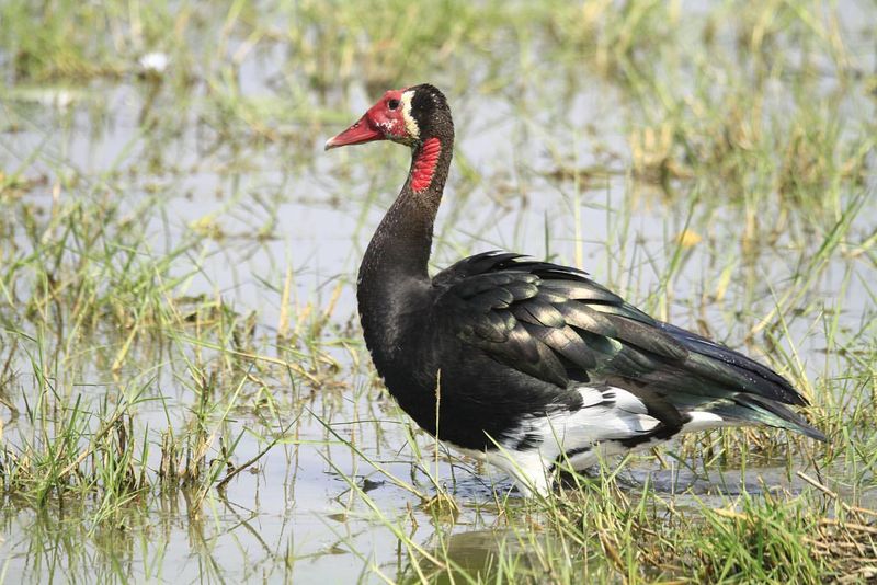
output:
M418 161L425 154L422 140L412 147L411 170L401 193L384 216L360 266L357 299L365 343L378 372L386 369L403 345L409 329L419 325L429 299L428 264L433 223L442 202L454 148L454 130L447 115L433 133L441 145L429 186L420 191ZM422 168L422 161L421 161Z

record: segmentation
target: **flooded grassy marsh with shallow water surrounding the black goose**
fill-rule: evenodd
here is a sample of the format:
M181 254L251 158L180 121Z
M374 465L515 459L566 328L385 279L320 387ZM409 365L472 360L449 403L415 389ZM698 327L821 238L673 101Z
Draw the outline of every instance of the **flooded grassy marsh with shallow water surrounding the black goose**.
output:
M874 578L858 9L4 2L0 582ZM523 501L414 428L353 306L406 156L319 146L420 81L459 137L436 267L581 265L786 375L829 444L695 435Z

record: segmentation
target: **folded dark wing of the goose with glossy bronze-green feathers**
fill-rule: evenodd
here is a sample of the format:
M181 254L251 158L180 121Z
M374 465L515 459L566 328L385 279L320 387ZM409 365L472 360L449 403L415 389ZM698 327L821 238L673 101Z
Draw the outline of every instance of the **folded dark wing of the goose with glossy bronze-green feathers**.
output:
M806 401L782 376L652 319L581 271L487 252L437 274L433 286L441 326L539 380L626 388L674 426L680 413L698 410L821 437L783 405Z

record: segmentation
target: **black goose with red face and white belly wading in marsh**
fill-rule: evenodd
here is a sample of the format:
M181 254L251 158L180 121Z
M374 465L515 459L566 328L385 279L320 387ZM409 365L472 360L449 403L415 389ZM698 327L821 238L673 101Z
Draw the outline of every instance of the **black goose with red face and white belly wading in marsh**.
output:
M559 470L682 433L762 424L827 440L789 408L807 401L783 376L583 271L488 251L430 276L447 99L429 83L387 91L326 150L375 140L409 147L411 167L360 266L363 336L386 389L443 444L547 496Z

